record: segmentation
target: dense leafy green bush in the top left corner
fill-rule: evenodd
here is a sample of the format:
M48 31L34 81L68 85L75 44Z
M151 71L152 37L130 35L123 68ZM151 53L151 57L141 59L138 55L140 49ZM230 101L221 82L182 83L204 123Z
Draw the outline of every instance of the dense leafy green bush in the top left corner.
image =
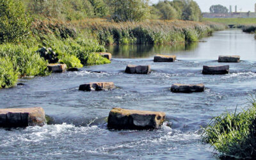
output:
M0 43L26 38L29 26L30 20L20 0L0 0Z

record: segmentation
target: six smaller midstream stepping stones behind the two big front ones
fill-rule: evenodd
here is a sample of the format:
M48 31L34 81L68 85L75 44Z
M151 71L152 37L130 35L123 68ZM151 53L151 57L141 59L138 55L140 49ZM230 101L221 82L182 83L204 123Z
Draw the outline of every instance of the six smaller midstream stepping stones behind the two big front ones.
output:
M154 57L156 62L173 62L176 56L157 55ZM239 56L219 56L219 62L239 62ZM127 65L125 73L127 74L150 74L150 65ZM229 65L207 66L204 65L202 74L228 74ZM113 82L95 82L86 83L79 86L81 91L100 91L113 90L116 86ZM171 92L192 93L204 92L204 84L172 84Z

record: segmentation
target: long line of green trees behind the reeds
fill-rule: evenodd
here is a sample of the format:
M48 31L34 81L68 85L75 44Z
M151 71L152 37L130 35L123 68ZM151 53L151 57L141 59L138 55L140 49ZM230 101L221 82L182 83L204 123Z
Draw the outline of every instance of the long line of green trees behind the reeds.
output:
M26 10L35 17L54 17L63 20L107 18L119 21L144 19L180 19L199 21L202 18L198 4L193 0L22 0Z

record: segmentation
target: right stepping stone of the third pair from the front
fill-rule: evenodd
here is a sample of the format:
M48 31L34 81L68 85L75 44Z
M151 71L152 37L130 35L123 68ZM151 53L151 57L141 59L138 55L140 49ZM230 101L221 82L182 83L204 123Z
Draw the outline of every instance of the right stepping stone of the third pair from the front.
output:
M219 66L207 66L203 67L203 74L228 74L229 65L219 65Z

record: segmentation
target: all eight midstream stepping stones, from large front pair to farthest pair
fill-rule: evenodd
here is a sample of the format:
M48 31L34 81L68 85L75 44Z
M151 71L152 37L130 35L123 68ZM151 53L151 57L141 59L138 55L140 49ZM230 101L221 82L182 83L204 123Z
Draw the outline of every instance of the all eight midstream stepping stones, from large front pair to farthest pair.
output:
M154 61L175 61L175 56L157 55ZM238 59L238 60L237 60ZM238 62L238 56L220 56L219 61ZM204 66L203 74L227 74L229 66ZM150 66L128 65L125 72L132 74L149 74ZM112 90L112 82L87 83L79 86L79 90L99 91ZM204 84L173 84L172 92L204 92ZM108 116L109 129L157 129L163 125L165 113L158 111L138 111L113 108ZM43 108L0 109L0 127L28 127L46 124Z

